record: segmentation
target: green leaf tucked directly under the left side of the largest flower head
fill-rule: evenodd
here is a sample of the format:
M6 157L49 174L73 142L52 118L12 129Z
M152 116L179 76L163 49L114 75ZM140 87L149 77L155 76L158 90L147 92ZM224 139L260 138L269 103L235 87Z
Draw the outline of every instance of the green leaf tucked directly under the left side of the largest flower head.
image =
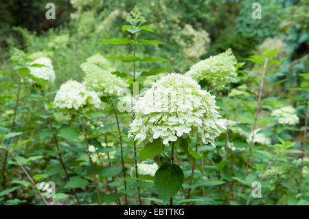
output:
M165 147L159 139L155 139L151 143L146 144L146 146L139 151L139 162L162 154L164 152L164 148Z

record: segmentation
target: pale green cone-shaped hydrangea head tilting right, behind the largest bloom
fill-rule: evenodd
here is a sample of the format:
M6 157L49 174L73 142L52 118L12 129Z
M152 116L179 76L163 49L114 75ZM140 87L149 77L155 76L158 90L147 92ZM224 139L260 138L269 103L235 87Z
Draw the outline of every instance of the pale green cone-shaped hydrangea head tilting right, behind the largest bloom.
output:
M197 82L207 80L213 87L222 87L230 82L235 82L236 64L236 57L231 49L227 49L217 56L210 56L196 63L185 75L191 76Z

